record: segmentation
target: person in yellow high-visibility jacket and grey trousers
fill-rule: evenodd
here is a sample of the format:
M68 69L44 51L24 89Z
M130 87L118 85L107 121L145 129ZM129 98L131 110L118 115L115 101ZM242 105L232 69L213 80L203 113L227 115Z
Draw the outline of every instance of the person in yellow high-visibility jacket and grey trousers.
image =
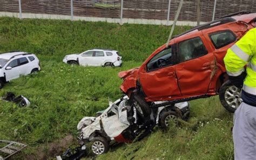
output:
M224 62L232 84L242 88L243 102L234 113L234 158L256 159L256 28L227 50Z

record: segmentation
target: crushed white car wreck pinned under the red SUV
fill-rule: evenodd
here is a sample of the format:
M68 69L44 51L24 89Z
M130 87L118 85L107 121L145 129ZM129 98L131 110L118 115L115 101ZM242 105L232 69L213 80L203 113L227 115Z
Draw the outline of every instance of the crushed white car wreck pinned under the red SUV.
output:
M136 107L129 106L128 96L110 103L110 106L98 117L84 117L77 125L80 131L79 143L91 142L93 154L107 152L110 142L133 142L151 133L156 124L163 129L170 120L178 117L187 120L190 114L188 102L176 103L152 109L151 118L143 120ZM164 102L154 102L156 105ZM135 104L136 105L136 104Z

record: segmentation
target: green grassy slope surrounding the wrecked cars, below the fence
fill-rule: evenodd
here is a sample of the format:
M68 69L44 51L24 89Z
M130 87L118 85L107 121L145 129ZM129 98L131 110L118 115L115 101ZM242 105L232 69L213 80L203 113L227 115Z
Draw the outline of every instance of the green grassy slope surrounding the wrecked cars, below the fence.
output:
M190 29L178 26L174 34ZM36 53L42 71L5 85L6 92L24 95L30 107L0 101L0 139L29 145L14 159L36 152L38 146L65 135L77 135L83 116L93 116L122 96L118 72L138 67L169 36L170 27L0 18L0 52ZM118 68L70 66L65 54L94 47L113 48L123 56ZM220 119L220 120L219 120ZM204 123L204 124L202 124ZM218 97L191 102L191 118L167 133L156 128L143 141L120 144L99 159L233 159L232 114Z

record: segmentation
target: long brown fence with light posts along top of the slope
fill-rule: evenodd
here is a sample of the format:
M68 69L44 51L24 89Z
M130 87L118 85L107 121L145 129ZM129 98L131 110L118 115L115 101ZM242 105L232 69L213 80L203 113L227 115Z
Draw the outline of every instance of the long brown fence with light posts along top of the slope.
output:
M178 19L180 22L196 22L197 16L201 22L208 22L242 10L256 12L256 0L200 0L199 5L197 2L184 0ZM158 22L169 25L178 5L178 0L0 0L0 13L17 13L20 18L34 14L37 17L65 16L71 20L107 18L121 24ZM197 8L200 15L197 15Z

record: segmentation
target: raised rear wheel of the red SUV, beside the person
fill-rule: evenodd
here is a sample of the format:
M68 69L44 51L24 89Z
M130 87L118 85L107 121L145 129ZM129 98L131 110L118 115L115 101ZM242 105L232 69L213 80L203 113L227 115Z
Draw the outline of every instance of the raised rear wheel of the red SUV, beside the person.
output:
M241 91L242 89L232 85L231 81L229 80L221 85L219 91L220 103L225 109L228 110L228 112L234 113L235 109L240 106L242 102Z

